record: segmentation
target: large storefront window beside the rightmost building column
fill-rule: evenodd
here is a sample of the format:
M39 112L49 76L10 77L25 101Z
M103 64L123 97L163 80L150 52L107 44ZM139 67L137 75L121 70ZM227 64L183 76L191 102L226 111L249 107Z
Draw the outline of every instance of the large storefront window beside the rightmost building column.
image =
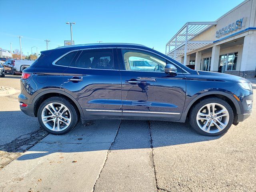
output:
M238 52L220 55L218 72L236 70Z

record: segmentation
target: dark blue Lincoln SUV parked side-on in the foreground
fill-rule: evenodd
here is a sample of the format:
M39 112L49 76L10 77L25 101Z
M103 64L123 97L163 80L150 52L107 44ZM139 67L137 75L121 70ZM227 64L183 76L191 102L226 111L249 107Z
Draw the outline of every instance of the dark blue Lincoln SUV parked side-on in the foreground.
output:
M42 51L21 79L20 109L51 134L92 119L185 122L216 136L252 112L241 77L192 70L138 44L85 44Z

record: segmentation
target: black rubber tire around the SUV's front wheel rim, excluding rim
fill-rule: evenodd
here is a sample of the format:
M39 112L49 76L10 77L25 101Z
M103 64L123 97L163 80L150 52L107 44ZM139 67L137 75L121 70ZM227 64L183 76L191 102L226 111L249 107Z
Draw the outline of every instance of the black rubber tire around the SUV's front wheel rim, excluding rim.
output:
M198 111L206 104L209 103L217 103L217 104L221 104L223 105L227 110L228 110L228 114L229 114L229 121L227 126L220 132L217 133L208 133L208 132L204 132L197 124L196 122L196 116ZM196 105L194 105L192 107L192 109L190 110L190 114L189 114L189 122L190 125L192 126L192 128L194 128L194 130L196 130L196 132L204 135L204 136L218 136L218 135L222 135L224 133L226 133L228 131L228 129L230 128L230 126L232 125L234 120L234 113L233 110L231 108L231 106L224 100L220 99L220 98L215 98L215 97L211 97L211 98L207 98L204 100L201 100L199 103L197 103Z

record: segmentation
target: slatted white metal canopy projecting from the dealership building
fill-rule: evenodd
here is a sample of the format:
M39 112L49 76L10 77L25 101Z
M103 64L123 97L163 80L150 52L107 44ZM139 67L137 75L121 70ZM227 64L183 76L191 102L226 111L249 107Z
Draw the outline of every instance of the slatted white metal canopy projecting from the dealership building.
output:
M192 38L216 24L217 22L187 22L166 44L165 54L175 60L177 57L184 55L184 65L186 65L187 53L213 43L213 40L192 41Z

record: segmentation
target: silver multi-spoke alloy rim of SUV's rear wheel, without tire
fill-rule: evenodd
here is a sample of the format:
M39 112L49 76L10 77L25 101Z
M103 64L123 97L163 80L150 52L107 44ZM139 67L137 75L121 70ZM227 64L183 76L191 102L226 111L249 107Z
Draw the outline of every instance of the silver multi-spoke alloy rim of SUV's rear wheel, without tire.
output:
M52 102L42 110L42 122L52 131L62 131L68 128L71 122L70 110L61 103Z

